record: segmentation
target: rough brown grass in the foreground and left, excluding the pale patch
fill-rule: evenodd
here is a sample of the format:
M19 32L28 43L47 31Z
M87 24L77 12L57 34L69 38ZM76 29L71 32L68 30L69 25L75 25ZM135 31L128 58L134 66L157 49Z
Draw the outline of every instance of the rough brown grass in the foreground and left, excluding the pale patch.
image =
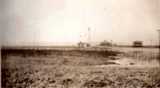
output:
M2 58L3 88L160 88L158 67L106 66L117 52L26 54Z

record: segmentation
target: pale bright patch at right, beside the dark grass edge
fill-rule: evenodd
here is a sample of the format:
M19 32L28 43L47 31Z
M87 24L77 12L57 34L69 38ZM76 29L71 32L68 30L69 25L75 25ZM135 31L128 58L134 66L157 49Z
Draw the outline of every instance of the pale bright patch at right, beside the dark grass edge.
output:
M121 48L120 59L113 60L120 66L160 67L158 48Z

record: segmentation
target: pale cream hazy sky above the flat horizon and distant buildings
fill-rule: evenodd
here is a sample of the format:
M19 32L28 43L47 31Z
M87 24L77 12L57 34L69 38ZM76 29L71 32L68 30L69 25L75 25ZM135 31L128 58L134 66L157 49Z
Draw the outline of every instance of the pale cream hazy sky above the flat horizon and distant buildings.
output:
M3 45L157 44L160 0L2 0ZM80 37L81 36L81 37Z

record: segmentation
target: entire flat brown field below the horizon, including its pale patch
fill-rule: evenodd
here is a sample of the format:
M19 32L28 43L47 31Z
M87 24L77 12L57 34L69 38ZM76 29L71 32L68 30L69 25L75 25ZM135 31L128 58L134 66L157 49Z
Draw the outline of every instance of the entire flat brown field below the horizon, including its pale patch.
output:
M157 49L1 51L2 88L160 88Z

